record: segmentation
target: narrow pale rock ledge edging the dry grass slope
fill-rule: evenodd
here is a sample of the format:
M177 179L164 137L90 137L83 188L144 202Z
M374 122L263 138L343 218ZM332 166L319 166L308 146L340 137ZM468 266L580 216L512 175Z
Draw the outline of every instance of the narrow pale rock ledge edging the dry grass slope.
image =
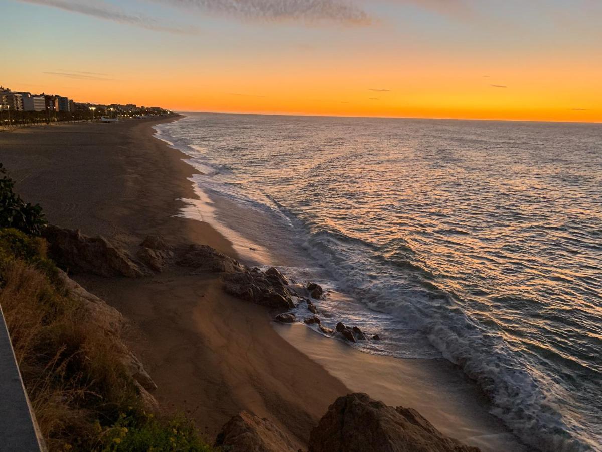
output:
M85 321L101 328L104 334L112 337L117 356L138 386L144 406L151 410L157 409L157 401L149 392L157 389L157 385L151 375L146 372L138 357L120 339L125 324L121 313L114 307L108 306L101 298L85 290L84 287L69 278L65 272L59 270L58 278L69 293L69 297L77 303L81 303L85 312Z

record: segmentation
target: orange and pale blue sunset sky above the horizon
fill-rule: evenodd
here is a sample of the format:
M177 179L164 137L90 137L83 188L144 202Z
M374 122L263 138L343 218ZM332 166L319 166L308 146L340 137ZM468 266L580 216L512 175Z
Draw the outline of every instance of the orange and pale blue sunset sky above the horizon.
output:
M178 111L602 122L600 0L0 0L0 84Z

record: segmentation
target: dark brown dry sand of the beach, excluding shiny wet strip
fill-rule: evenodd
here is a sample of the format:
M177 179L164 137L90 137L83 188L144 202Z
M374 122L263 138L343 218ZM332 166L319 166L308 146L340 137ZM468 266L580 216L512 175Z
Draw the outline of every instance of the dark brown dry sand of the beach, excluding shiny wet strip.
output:
M102 234L132 251L159 233L235 256L208 224L175 217L179 199L195 197L187 180L194 169L152 136L157 122L0 133L0 162L52 224ZM264 309L223 293L213 274L76 279L129 319L129 343L156 381L163 409L188 412L208 438L244 409L272 419L302 447L327 406L348 392L276 333Z

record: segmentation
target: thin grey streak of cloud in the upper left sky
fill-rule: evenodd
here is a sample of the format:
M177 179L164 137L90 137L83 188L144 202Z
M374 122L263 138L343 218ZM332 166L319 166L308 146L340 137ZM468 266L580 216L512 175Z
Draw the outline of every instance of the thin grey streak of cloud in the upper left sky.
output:
M86 16L97 17L98 19L112 20L120 24L135 25L136 27L146 28L147 30L166 31L177 34L197 33L195 28L190 27L171 27L164 24L163 20L154 19L144 14L126 13L121 8L106 2L90 2L88 0L20 0L25 3L44 5L59 8L72 13L85 14Z

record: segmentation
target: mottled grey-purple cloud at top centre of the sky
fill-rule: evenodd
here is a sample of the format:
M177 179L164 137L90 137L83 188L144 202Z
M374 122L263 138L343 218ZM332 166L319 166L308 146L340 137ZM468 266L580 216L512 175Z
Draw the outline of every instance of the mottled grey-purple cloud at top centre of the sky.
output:
M154 0L187 10L241 19L370 24L371 17L352 0Z

